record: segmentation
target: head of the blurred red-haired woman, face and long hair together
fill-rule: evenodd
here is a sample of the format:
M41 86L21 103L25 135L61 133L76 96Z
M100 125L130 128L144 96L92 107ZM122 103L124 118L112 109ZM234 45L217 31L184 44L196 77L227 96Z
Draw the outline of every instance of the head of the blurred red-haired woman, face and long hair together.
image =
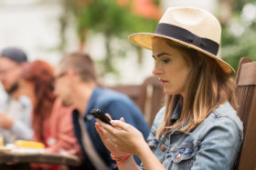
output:
M44 61L35 61L24 66L21 73L20 87L24 86L30 97L33 107L32 126L34 129L33 139L44 143L48 147L49 118L54 95L52 77L54 68ZM25 90L24 90L25 91Z

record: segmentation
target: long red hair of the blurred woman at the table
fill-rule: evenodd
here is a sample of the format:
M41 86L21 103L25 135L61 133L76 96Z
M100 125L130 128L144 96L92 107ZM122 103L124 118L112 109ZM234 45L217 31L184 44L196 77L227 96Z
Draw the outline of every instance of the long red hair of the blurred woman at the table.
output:
M52 105L56 98L53 93L52 79L54 68L47 62L36 60L24 66L21 78L35 85L36 105L33 108L32 126L37 132L37 139L44 141L43 123L51 114Z

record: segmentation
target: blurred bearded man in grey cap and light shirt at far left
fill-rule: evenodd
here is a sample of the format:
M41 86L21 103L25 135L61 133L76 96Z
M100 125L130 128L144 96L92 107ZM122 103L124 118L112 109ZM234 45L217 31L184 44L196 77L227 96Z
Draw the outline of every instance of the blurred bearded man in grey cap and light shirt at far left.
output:
M0 97L0 134L4 136L5 144L16 139L31 140L33 135L31 101L27 95L16 95L18 77L26 62L27 55L19 48L6 47L0 52L0 82L6 92Z

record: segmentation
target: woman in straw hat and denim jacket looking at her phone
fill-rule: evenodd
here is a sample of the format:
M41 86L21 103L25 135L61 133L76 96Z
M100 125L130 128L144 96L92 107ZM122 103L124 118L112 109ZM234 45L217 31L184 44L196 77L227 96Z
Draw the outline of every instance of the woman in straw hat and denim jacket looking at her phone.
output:
M151 134L142 135L124 120L96 128L119 169L231 169L242 142L236 115L233 68L221 60L221 28L208 11L168 8L155 34L130 35L133 44L152 49L153 74L166 95ZM100 126L101 125L101 126ZM135 165L137 155L142 165Z

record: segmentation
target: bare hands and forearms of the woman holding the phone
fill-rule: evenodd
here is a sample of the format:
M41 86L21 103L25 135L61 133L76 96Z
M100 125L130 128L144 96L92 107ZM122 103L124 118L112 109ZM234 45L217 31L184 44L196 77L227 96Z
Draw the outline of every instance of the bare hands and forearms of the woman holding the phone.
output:
M137 155L143 162L145 169L165 170L165 167L161 165L149 146L145 143L142 133L133 127L133 125L124 123L123 118L112 120L112 125L105 124L99 119L97 119L97 122L95 126L101 136L101 140L112 155ZM131 156L127 161L119 165L119 169L140 169L140 167L136 165Z

